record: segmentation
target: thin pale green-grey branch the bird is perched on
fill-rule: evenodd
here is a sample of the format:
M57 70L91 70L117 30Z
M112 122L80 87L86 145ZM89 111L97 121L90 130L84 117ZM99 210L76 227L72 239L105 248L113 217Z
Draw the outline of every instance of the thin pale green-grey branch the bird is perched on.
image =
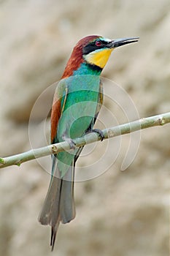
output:
M104 139L108 139L120 135L125 135L130 132L135 132L139 129L146 129L149 127L155 127L160 125L162 126L163 124L168 123L170 123L170 112L160 114L157 116L141 118L137 121L132 121L128 124L120 124L117 127L103 129L102 132L104 134ZM100 136L96 132L90 132L89 134L81 138L74 139L74 143L76 147L80 147L89 143L96 142L97 140L101 140ZM57 154L58 152L69 150L71 149L71 147L72 146L68 142L63 141L61 143L56 143L42 148L35 148L30 151L21 154L16 154L11 157L0 158L0 168L7 167L10 165L20 166L20 164L22 164L23 162L27 162L39 157L45 157L50 154Z

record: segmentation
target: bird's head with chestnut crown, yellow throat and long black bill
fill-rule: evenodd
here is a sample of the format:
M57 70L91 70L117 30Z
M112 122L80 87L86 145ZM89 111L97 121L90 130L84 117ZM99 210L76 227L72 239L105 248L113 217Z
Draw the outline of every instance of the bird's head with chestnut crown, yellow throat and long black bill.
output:
M131 42L137 42L138 39L139 37L107 39L96 35L80 39L72 51L72 55L63 73L63 78L72 75L83 62L102 70L107 64L112 50Z

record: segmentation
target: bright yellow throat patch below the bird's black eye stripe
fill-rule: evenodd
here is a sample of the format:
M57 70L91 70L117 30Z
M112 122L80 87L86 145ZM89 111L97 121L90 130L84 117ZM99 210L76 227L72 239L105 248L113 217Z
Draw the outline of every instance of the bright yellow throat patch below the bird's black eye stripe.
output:
M112 50L113 48L106 48L93 51L89 53L87 56L85 56L85 60L88 61L88 63L96 65L103 69L104 66L107 64L107 61L109 59L110 54L112 53Z

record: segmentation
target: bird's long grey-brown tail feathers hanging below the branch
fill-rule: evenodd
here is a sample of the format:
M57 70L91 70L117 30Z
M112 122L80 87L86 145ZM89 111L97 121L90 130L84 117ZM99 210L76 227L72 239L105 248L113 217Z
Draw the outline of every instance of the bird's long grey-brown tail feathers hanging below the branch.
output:
M50 181L45 203L39 215L39 222L42 225L51 226L50 246L52 246L52 251L60 222L65 224L75 217L74 164L69 167L63 178L57 178L58 175L60 175L60 171L58 167L55 167L55 176Z

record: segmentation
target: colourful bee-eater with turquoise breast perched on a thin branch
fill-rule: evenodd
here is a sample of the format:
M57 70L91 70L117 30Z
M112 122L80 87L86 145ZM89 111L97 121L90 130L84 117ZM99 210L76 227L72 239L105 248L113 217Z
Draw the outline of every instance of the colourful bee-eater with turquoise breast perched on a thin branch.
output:
M73 139L93 129L103 102L101 71L112 50L139 37L107 39L96 35L84 37L75 45L72 55L55 91L51 113L51 143ZM70 222L75 217L74 168L82 148L73 146L52 157L50 187L39 216L42 225L51 226L52 250L60 222Z

